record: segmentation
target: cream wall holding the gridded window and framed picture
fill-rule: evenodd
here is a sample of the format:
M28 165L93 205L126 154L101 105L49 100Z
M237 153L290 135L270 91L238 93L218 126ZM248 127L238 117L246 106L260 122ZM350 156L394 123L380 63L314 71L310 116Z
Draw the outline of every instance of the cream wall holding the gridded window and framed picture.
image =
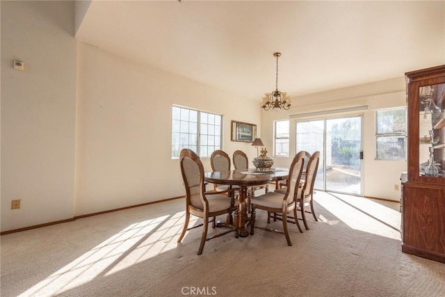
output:
M184 195L171 159L172 104L224 116L230 156L250 143L230 141L230 121L257 124L259 102L78 44L75 215ZM246 112L248 111L248 112ZM209 159L203 160L211 171Z

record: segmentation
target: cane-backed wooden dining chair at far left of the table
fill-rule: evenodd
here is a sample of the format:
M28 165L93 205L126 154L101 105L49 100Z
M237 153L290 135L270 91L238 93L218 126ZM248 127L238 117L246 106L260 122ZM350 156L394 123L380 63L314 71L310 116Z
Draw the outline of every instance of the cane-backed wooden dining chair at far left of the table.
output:
M220 216L222 214L232 214L234 210L234 204L232 200L227 199L225 195L219 193L205 192L204 185L204 166L200 160L200 157L192 150L181 150L179 155L181 174L184 179L184 186L186 188L186 220L184 223L184 229L181 236L179 236L178 242L181 242L186 234L186 231L194 229L195 227L204 226L202 229L200 248L197 251L197 255L202 254L204 244L207 240L216 238L218 236L225 235L229 232L235 231L234 228L225 232L220 232L216 235L207 238L207 231L209 229L209 218ZM190 215L193 214L198 218L202 218L203 223L194 227L188 228L188 222Z

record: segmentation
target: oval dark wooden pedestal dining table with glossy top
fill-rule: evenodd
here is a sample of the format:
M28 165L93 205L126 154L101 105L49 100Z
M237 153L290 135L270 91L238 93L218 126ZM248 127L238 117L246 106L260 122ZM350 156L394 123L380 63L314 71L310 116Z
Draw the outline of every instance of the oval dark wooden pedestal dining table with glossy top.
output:
M287 179L288 176L289 168L275 168L271 172L256 172L254 169L244 169L205 172L204 180L212 184L239 186L238 218L236 218L235 236L245 237L249 235L249 232L245 229L245 224L249 220L248 208L246 207L248 188Z

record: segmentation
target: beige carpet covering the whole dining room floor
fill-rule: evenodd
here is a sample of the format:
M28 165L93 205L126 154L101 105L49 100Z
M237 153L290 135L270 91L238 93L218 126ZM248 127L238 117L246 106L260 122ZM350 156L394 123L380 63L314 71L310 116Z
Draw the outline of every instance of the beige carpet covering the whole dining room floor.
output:
M200 228L177 244L182 199L4 235L1 296L445 296L445 264L401 252L398 211L323 192L315 208L291 247L256 230L201 256Z

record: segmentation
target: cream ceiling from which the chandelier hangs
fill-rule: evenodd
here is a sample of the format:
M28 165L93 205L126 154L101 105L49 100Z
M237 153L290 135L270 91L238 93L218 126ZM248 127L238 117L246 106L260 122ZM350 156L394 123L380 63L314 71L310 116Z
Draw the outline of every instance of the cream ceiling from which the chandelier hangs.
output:
M92 1L76 38L261 100L445 63L444 1Z

